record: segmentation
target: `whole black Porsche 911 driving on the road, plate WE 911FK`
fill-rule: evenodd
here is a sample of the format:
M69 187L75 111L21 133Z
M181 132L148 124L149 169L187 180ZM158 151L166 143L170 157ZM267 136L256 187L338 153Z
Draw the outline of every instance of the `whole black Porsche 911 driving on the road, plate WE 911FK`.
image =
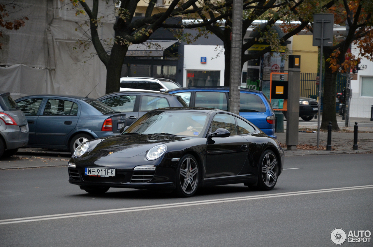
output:
M93 194L116 187L189 197L209 185L271 190L283 169L277 140L223 110L156 109L126 128L78 146L68 163L69 182Z

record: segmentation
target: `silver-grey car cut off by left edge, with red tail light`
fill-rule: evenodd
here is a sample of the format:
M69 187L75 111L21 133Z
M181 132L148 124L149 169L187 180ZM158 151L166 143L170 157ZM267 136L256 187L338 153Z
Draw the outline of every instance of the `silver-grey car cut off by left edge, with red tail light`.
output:
M28 142L25 114L9 93L0 91L0 157L10 157Z

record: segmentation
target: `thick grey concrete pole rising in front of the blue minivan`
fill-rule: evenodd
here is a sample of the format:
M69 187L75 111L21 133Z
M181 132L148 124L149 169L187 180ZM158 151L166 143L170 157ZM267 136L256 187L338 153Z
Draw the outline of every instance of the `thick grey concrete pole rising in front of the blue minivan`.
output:
M229 111L235 114L239 114L239 92L242 74L242 6L242 0L233 0Z

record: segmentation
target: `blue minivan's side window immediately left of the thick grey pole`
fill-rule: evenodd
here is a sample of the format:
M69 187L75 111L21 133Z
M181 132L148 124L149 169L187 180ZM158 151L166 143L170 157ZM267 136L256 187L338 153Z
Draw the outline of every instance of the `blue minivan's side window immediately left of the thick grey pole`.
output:
M194 106L228 110L225 92L195 92Z

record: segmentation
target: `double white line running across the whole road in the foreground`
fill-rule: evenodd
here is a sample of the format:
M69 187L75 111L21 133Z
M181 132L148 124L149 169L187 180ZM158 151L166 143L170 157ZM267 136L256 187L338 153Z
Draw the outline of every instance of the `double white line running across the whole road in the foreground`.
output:
M166 208L173 208L173 207L195 206L195 205L201 205L201 204L224 203L224 202L233 202L233 201L245 201L245 200L254 200L254 199L285 197L285 196L298 196L298 195L347 191L347 190L360 190L360 189L373 189L373 185L330 188L330 189L321 189L321 190L294 191L294 192L257 195L257 196L231 197L231 198L221 198L221 199L203 200L203 201L188 201L188 202L182 202L182 203L160 204L160 205L152 205L152 206L128 207L128 208L121 208L121 209L106 209L106 210L96 210L96 211L86 211L86 212L76 212L76 213L62 213L62 214L57 214L57 215L42 215L42 216L32 216L32 217L25 217L25 218L3 219L3 220L0 220L0 225L22 223L22 222L32 222L32 221L46 221L50 219L64 219L64 218L73 218L73 217L81 217L81 216L105 215L105 214L111 214L111 213L125 213L125 212L135 212L135 211L154 210L154 209L166 209Z

